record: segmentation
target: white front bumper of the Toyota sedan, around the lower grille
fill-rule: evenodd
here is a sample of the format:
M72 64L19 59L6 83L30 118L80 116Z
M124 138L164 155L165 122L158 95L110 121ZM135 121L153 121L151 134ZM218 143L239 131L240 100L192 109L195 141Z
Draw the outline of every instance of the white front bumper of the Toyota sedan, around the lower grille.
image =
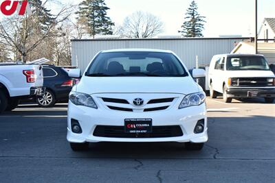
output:
M71 119L80 123L82 134L75 134L71 129ZM113 138L94 136L97 125L124 126L124 119L153 119L153 126L179 125L182 136L166 138ZM195 134L197 121L204 119L204 131ZM106 109L75 106L69 101L67 119L67 141L70 143L98 142L179 142L205 143L208 141L206 104L181 110L170 109L158 112L118 112Z

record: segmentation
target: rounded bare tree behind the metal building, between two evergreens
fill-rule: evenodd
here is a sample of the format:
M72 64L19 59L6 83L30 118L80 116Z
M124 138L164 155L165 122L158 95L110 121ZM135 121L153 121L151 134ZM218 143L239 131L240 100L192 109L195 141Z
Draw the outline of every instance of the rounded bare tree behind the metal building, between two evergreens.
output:
M148 12L135 12L124 19L123 26L117 30L126 38L152 38L163 31L164 24Z

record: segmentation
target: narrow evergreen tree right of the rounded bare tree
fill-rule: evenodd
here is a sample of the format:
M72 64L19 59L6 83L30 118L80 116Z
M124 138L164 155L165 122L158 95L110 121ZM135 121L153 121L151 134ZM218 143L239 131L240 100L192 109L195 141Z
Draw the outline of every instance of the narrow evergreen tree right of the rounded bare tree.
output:
M186 21L181 26L182 30L179 31L182 36L188 38L203 37L203 23L206 23L206 21L204 21L206 16L201 16L197 12L197 9L197 3L192 1L190 7L187 9L186 17L184 18Z

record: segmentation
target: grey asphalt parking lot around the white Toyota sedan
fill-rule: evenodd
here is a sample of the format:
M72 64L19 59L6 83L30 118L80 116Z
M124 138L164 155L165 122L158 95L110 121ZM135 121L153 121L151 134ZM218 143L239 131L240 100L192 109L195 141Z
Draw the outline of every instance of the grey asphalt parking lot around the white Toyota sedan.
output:
M209 141L98 143L74 152L67 106L0 116L0 182L275 182L275 103L207 99Z

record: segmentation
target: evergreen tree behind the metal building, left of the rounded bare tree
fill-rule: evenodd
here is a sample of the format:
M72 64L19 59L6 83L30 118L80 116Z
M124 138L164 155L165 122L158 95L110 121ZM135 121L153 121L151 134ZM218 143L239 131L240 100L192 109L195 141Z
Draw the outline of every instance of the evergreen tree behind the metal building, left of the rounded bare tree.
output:
M107 7L104 0L85 0L79 5L78 23L84 24L87 33L91 36L96 34L113 34L112 26L115 25L107 16Z

